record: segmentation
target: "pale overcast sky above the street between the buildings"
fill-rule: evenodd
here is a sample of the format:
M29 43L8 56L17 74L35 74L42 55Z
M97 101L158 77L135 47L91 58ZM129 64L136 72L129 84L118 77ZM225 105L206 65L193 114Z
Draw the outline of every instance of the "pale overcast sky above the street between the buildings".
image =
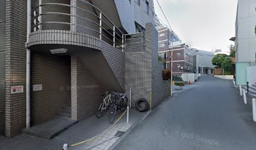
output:
M229 51L234 44L237 0L158 0L176 34L191 48ZM167 24L154 0L157 17Z

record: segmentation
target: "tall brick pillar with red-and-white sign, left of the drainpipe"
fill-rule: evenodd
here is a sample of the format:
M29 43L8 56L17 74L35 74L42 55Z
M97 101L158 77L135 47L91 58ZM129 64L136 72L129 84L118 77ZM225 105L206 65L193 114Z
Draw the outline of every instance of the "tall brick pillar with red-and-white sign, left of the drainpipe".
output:
M26 1L6 1L6 136L26 126ZM24 92L11 94L11 86Z

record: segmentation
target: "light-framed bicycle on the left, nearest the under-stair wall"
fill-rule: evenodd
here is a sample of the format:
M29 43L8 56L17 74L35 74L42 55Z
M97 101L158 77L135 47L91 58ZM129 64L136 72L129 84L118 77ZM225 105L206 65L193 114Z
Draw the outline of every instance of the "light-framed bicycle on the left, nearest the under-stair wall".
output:
M97 118L101 118L104 112L109 110L110 106L113 103L113 97L115 96L115 92L112 91L109 94L104 94L102 96L103 96L103 100L95 108L95 116Z

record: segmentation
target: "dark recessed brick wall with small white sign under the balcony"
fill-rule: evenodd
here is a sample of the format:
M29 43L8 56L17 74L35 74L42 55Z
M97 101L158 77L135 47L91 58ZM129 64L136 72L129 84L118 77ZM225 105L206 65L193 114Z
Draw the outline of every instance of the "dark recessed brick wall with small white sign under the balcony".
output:
M31 125L55 118L61 105L71 103L70 68L70 56L31 54ZM43 90L33 91L35 84Z

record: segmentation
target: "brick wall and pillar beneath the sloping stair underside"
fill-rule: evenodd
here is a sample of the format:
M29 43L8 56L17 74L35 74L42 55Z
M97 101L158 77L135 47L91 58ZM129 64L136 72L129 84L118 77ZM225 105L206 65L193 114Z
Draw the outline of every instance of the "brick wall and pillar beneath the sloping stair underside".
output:
M72 119L80 120L94 113L105 92L77 56L71 57Z

